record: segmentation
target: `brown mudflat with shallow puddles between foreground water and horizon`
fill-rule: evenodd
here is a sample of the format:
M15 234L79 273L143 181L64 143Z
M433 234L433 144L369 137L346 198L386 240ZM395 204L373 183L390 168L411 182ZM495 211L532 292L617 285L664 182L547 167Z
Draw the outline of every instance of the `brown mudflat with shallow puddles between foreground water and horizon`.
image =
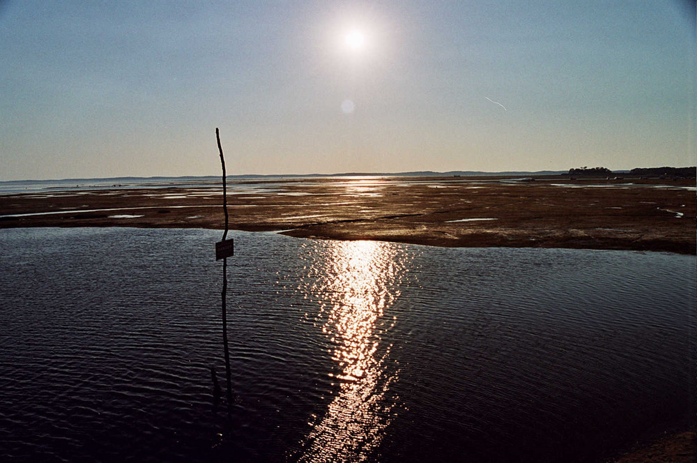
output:
M0 228L224 227L220 183L0 196ZM447 247L696 253L695 179L329 177L228 181L229 227Z

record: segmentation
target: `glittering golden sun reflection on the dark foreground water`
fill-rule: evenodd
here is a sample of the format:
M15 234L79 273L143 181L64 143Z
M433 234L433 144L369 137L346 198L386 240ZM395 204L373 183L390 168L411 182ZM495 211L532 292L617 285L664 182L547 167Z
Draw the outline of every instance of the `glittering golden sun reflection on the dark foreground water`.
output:
M399 370L383 336L397 321L385 312L399 296L401 257L394 246L375 241L331 243L333 252L316 264L321 278L309 291L325 301L319 324L332 346L330 376L338 390L303 441L302 462L367 460L396 404L389 390Z

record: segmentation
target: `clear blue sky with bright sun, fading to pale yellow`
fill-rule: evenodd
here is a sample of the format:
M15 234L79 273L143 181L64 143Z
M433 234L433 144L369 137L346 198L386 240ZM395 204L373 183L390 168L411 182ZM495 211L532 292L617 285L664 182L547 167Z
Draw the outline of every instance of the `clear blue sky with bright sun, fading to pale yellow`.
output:
M696 165L695 41L689 0L0 0L0 181L218 175L215 128L228 174Z

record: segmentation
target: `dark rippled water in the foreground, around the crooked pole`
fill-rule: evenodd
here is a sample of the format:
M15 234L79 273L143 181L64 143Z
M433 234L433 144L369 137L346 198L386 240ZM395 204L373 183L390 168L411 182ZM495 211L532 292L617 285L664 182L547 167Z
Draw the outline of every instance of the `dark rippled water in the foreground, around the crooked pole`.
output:
M602 462L694 416L696 258L0 233L0 460ZM224 386L223 386L224 388Z

